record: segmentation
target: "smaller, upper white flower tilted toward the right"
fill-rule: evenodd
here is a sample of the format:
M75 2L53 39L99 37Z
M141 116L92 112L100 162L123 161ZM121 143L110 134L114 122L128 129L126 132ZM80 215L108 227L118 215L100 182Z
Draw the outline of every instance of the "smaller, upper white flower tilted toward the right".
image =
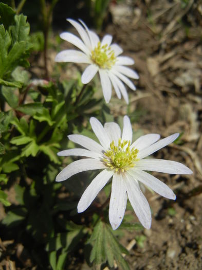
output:
M89 64L81 77L82 83L90 82L99 72L106 103L111 99L112 85L118 98L120 99L122 94L128 103L128 95L123 82L132 90L135 90L135 85L127 77L139 79L139 76L125 65L133 65L134 60L130 57L119 56L123 50L117 44L111 45L112 35L105 35L100 42L98 35L89 30L81 20L81 24L71 19L67 19L67 21L77 29L81 39L69 32L61 33L60 37L74 44L81 51L63 50L58 53L55 61Z

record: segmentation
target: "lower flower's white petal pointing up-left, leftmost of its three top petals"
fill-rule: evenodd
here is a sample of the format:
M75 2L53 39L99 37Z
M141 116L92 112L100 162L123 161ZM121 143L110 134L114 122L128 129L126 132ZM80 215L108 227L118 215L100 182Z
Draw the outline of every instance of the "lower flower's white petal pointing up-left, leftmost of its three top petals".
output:
M108 150L111 141L100 121L98 121L98 119L96 119L95 117L91 117L90 124L101 145L104 147L105 150Z

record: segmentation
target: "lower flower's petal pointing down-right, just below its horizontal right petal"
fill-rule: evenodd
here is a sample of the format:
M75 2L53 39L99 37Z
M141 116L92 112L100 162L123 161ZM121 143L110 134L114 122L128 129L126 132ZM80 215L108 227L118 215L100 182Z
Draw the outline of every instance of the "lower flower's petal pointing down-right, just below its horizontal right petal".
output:
M128 170L128 173L131 174L132 177L135 178L137 181L153 189L156 193L160 194L161 196L171 200L176 199L176 196L172 191L172 189L170 189L166 184L161 182L158 178L154 177L153 175L138 170L136 168Z

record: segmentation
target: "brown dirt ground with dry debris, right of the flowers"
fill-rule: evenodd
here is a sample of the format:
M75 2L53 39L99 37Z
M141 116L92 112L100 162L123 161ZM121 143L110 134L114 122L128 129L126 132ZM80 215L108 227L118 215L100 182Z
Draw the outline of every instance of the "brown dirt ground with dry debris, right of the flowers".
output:
M130 92L130 112L143 113L134 131L162 137L182 133L182 143L155 157L179 161L193 171L181 176L153 173L173 189L177 199L145 192L153 211L152 228L125 234L122 244L130 250L126 259L132 270L202 269L202 4L126 1L112 4L110 13L113 24L107 23L101 34L113 35L124 55L135 60L140 76L137 91ZM53 59L50 56L52 66ZM115 117L126 113L123 103L109 106ZM142 247L134 241L137 235L145 236ZM89 268L83 264L80 269Z

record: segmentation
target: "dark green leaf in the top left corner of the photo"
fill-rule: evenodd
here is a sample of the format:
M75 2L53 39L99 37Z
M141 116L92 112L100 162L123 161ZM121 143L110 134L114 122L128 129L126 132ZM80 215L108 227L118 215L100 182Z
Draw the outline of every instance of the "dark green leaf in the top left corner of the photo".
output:
M14 24L15 12L6 4L0 3L0 23L8 30L11 24Z

